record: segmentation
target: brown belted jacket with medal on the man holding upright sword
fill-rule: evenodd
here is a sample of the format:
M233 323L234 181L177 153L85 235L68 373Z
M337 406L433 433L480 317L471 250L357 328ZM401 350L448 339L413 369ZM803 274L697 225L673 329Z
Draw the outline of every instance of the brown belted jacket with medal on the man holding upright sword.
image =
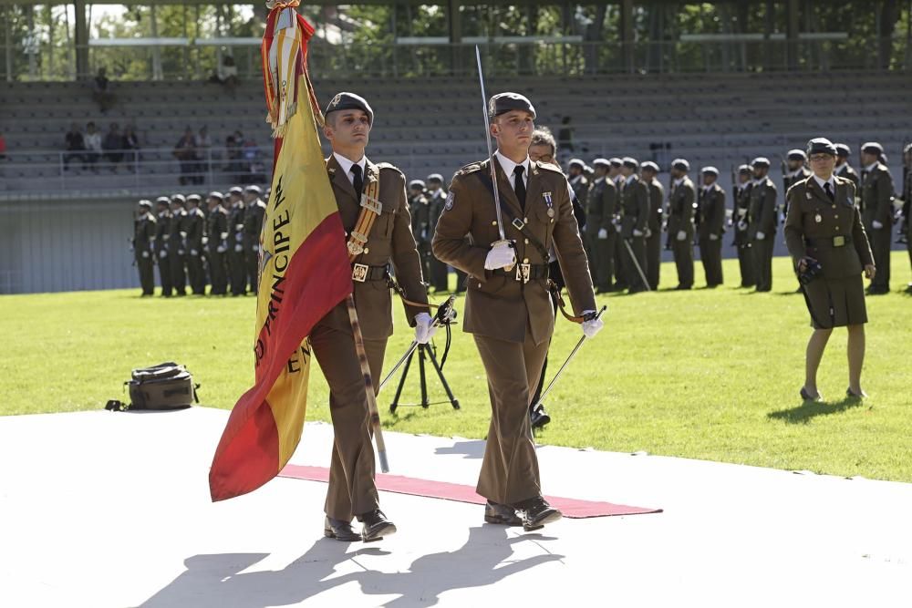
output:
M545 281L517 281L518 268L505 275L484 268L491 243L500 240L489 190L490 162L472 163L453 176L445 211L434 233L433 252L440 262L471 275L465 300L466 332L518 343L531 332L534 343L541 344L554 333L554 308ZM575 314L595 310L589 265L564 174L551 165L531 163L523 211L500 163L495 167L504 210L503 232L515 241L518 262L541 266L548 259L510 223L510 215L526 222L528 231L545 249L554 247Z

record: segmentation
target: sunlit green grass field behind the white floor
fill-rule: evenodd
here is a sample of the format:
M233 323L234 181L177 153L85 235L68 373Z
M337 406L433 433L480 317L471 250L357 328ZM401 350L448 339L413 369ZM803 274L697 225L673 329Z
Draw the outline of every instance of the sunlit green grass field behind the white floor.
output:
M907 254L894 254L894 292L867 300L863 386L870 397L863 404L843 398L844 330L834 332L821 366L826 401L803 405L798 397L811 330L789 266L784 258L775 261L772 294L736 289L737 262L730 260L728 284L717 290L664 291L676 283L673 266L665 264L658 293L599 296L608 305L606 329L584 346L547 399L554 422L539 440L912 481L912 297L897 293L912 279ZM0 414L100 409L109 398L127 400L122 382L131 368L165 360L191 369L202 384L202 403L232 407L253 383L254 298L138 294L0 297ZM411 340L401 307L397 314L388 364ZM579 335L577 325L558 323L551 374ZM384 427L483 438L487 387L471 336L461 329L453 332L444 371L461 410L442 403L390 415L391 385L379 397ZM408 386L405 400L414 402L417 370ZM430 390L433 400L445 399L434 376ZM317 368L308 419L328 420L326 404Z

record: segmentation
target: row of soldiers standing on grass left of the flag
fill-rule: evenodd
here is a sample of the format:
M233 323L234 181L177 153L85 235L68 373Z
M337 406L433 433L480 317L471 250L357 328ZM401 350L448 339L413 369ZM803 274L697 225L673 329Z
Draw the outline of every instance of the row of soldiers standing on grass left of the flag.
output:
M256 294L260 231L266 203L259 186L199 194L161 196L139 202L132 251L142 295L154 294L158 266L161 295ZM267 191L268 199L268 191Z

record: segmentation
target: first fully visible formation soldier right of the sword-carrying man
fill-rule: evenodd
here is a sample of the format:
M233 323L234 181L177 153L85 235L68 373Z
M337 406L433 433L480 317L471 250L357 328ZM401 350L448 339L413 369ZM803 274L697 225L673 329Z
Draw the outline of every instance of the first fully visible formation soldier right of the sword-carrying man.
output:
M596 293L605 294L611 291L615 273L617 230L613 222L617 214L617 186L614 180L607 179L610 162L596 159L592 165L596 170L596 179L589 185L586 194L585 243Z

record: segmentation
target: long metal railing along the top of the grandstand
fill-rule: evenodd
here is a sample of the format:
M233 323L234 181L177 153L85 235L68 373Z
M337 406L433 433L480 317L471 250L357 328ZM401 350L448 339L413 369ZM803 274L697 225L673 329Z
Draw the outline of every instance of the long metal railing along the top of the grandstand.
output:
M629 44L522 40L482 43L491 77L676 74L694 72L906 69L912 54L906 36L888 39L818 38L680 39ZM315 39L310 68L316 77L441 77L473 74L475 43L345 44ZM219 57L232 55L238 76L261 77L257 46L88 46L87 74L76 74L73 46L39 46L29 61L22 49L0 48L6 80L72 80L107 67L118 80L201 80L212 77ZM47 60L53 55L53 61ZM155 57L155 61L153 61Z

